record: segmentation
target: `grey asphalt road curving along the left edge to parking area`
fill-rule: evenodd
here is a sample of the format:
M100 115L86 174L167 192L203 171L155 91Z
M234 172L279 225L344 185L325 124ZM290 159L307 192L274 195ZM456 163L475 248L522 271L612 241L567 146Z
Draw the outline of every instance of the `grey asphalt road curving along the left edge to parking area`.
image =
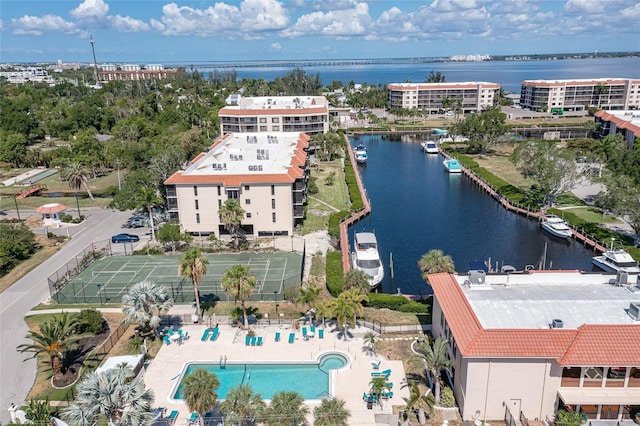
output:
M83 223L70 228L50 229L64 234L68 229L71 240L55 255L0 293L0 424L10 421L7 408L11 403L20 405L25 401L36 377L35 359L24 361L30 354L20 353L16 347L29 343L24 337L28 331L24 315L49 297L47 277L94 241L106 240L120 232L139 234L141 240L146 239L147 228L121 228L131 212L92 208L82 210L86 216ZM7 216L11 217L11 213L8 213ZM20 213L22 216L28 214ZM139 244L144 244L144 241Z

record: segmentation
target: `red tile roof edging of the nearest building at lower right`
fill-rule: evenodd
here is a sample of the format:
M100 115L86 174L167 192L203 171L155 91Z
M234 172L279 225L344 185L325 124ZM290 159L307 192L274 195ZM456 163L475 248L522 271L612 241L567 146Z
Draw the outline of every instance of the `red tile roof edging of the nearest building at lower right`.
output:
M640 365L640 324L575 329L485 329L451 274L429 283L460 353L473 358L555 358L561 365Z

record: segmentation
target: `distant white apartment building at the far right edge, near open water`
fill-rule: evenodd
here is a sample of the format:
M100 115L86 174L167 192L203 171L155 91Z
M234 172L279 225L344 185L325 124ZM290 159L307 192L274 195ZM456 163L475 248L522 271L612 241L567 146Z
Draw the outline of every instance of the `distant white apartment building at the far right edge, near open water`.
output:
M589 106L606 110L639 109L640 80L525 80L520 89L520 105L538 112L553 108L583 111Z

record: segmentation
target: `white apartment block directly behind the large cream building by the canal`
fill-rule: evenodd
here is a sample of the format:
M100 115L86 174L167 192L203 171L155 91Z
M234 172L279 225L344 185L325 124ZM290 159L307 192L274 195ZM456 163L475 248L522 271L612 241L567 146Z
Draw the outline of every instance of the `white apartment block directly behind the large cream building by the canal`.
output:
M324 96L239 98L218 111L221 133L329 131L329 103Z

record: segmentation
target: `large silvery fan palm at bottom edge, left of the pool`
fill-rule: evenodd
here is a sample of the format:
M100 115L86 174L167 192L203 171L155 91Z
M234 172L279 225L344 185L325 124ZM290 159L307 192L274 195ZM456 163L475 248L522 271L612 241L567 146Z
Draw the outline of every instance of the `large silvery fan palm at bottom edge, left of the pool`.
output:
M76 386L76 398L62 409L62 418L73 425L143 426L153 422L153 391L133 371L119 366L103 372L88 373Z

